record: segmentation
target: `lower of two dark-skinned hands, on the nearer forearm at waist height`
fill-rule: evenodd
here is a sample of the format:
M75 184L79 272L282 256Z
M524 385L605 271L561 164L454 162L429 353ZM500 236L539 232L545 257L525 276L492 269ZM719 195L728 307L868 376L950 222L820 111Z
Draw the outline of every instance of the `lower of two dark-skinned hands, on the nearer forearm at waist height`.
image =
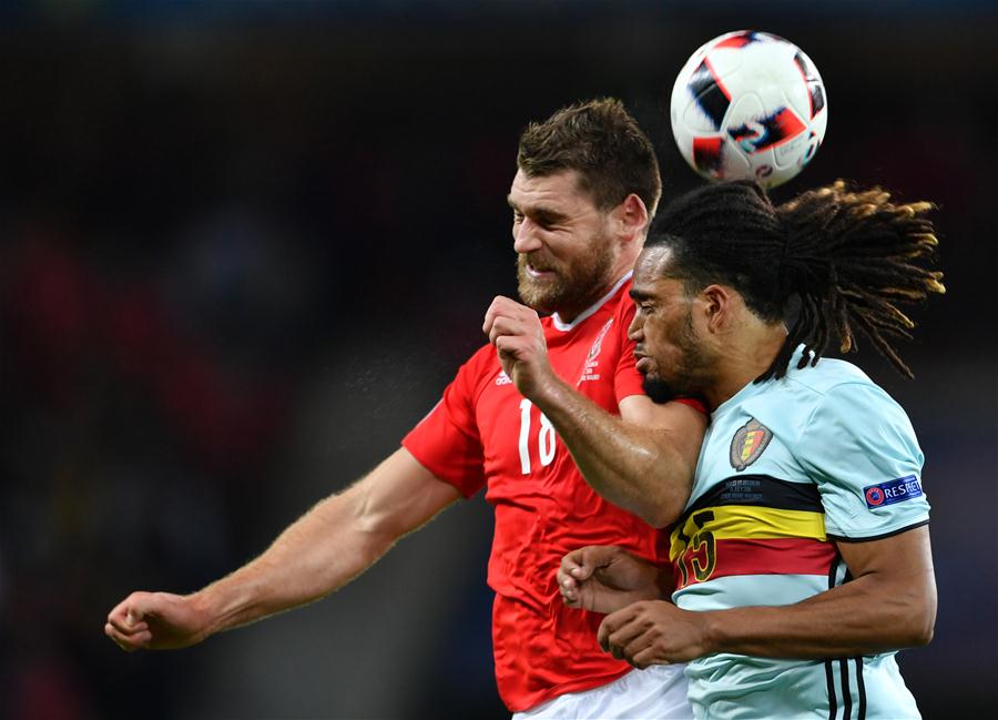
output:
M714 650L707 639L710 612L680 610L671 602L635 602L603 618L600 647L639 670L702 658Z

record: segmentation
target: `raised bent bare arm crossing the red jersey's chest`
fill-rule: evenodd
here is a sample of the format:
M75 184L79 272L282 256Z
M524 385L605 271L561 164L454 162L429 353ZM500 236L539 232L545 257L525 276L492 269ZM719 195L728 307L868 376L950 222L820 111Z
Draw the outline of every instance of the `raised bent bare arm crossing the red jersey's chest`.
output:
M485 331L525 397L551 420L585 480L650 525L675 520L690 497L706 417L681 403L634 395L611 415L551 369L537 313L497 297Z

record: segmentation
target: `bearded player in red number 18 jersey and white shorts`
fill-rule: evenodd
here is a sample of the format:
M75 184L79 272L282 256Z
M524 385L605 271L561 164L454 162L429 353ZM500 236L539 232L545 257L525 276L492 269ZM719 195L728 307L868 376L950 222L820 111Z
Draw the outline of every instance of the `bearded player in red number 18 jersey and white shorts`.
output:
M496 678L508 708L523 718L690 717L682 668L633 670L603 653L595 640L602 616L566 607L554 580L561 557L588 545L663 562L653 525L674 520L690 491L704 415L690 404L653 404L627 337L630 273L660 194L648 138L620 102L601 100L525 131L508 200L520 296L550 313L543 337L554 372L600 413L662 429L658 460L674 468L663 494L583 468L615 505L603 499L486 345L369 475L206 588L132 594L109 615L108 636L125 650L182 648L305 605L486 488L496 511L488 572Z

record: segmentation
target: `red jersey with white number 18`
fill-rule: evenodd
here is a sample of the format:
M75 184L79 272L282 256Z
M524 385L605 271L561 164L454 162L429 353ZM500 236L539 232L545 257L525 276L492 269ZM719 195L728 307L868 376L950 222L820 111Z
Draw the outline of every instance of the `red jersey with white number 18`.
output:
M614 415L621 399L642 393L627 337L629 288L630 277L571 325L541 321L554 372ZM465 496L487 487L495 506L488 581L496 591L496 680L507 707L527 710L627 673L631 667L597 642L603 616L567 608L554 576L562 556L585 545L620 545L664 564L663 539L589 487L554 428L502 372L495 347L461 366L403 445Z

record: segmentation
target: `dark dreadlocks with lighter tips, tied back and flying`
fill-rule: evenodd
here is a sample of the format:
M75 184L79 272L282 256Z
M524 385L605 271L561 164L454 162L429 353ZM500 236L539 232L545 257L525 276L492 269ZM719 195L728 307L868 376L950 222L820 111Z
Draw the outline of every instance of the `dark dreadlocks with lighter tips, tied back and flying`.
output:
M931 203L896 203L879 187L838 180L774 206L754 182L700 187L670 204L649 245L673 251L669 274L688 294L711 283L734 287L766 322L796 317L772 365L756 378L783 377L798 345L798 368L815 365L833 335L854 351L856 328L899 373L914 377L892 344L915 323L898 304L945 293Z

